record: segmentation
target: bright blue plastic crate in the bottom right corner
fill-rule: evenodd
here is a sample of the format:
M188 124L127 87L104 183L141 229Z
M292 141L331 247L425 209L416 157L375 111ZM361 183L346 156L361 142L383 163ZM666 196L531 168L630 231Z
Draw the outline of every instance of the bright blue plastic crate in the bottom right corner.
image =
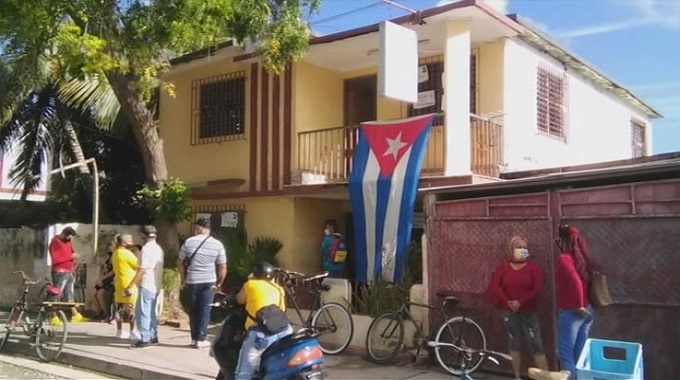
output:
M605 349L624 352L623 359L605 357ZM617 355L618 356L618 355ZM644 379L642 345L615 340L588 339L576 363L578 380Z

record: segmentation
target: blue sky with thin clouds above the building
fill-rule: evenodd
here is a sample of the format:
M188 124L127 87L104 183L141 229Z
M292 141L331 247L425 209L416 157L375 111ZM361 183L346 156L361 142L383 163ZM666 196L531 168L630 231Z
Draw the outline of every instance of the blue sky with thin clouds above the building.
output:
M680 0L486 1L528 19L660 111L653 153L680 151ZM451 1L397 2L426 9ZM403 14L379 0L324 0L312 27L331 34Z

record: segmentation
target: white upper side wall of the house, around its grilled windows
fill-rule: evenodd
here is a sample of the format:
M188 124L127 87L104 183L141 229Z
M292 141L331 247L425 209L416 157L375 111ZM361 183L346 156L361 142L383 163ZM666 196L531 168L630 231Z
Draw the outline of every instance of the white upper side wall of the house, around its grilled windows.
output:
M507 170L578 165L632 156L631 118L651 121L580 74L519 40L504 51L504 129ZM567 76L567 141L538 133L537 67L547 65Z

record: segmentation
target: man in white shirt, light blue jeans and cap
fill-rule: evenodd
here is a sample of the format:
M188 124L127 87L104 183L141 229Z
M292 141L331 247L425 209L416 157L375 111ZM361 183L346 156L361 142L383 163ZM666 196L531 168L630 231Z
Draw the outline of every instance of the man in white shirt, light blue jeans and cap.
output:
M158 293L163 287L163 248L156 243L156 234L156 227L142 227L141 235L144 239L142 257L137 274L126 289L131 293L135 286L139 286L135 318L140 338L130 348L147 348L152 344L158 344L156 305Z

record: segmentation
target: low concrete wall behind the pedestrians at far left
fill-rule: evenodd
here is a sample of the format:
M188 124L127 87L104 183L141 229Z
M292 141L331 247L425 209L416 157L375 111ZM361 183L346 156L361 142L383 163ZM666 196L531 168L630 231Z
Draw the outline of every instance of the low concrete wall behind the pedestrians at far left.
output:
M106 247L118 233L131 233L136 243L141 243L139 226L100 225L98 248L93 248L93 229L91 224L58 224L46 230L0 229L0 307L10 307L20 296L21 278L12 271L23 270L33 279L50 276L51 260L47 253L49 241L66 227L73 227L78 233L73 238L73 248L81 256L78 264L87 265L85 303L89 309L90 296L99 275L100 265L106 260ZM96 253L95 253L96 252ZM39 289L29 294L31 301L37 301ZM36 298L34 298L36 297Z

